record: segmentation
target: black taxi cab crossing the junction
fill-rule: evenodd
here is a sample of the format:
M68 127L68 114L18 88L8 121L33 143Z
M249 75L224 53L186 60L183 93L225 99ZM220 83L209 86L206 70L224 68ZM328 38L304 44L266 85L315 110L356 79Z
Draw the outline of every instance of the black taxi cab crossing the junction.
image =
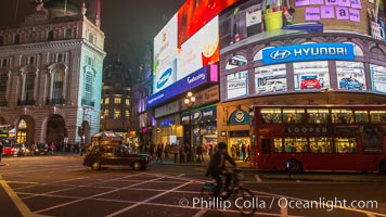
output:
M131 167L134 170L145 169L151 162L149 154L129 152L125 144L94 145L83 159L83 166L93 170L107 167Z

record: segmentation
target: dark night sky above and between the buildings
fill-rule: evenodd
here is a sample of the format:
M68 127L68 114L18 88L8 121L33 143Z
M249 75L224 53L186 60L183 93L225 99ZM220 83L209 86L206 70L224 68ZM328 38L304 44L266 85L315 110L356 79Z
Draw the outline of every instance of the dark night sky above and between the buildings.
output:
M48 2L49 0L44 0ZM64 0L63 0L64 1ZM78 5L82 0L68 0ZM143 58L142 48L153 41L153 37L178 11L185 0L102 0L101 23L106 36L105 63L116 59L138 67ZM1 0L0 26L23 22L25 14L34 11L34 0L18 0L18 13L15 17L17 0Z

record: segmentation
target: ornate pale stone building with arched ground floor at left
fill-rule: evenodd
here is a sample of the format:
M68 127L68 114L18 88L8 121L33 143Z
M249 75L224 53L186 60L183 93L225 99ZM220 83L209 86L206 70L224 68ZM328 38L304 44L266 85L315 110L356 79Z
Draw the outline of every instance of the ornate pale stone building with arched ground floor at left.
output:
M17 143L88 143L99 131L100 16L63 4L38 2L22 25L0 29L0 123L15 126Z

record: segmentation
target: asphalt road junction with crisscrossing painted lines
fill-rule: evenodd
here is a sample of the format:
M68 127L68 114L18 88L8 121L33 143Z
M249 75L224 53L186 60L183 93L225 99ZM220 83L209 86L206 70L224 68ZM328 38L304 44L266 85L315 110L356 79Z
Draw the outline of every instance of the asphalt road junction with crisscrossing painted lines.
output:
M203 166L93 171L74 156L4 157L3 162L8 165L0 167L1 216L241 216L233 200L216 209L207 207L208 201L201 199L202 184L208 181ZM245 169L244 186L256 196L256 216L386 216L386 183L381 175L313 173L303 175L310 179L278 178L285 176ZM325 176L334 179L319 179Z

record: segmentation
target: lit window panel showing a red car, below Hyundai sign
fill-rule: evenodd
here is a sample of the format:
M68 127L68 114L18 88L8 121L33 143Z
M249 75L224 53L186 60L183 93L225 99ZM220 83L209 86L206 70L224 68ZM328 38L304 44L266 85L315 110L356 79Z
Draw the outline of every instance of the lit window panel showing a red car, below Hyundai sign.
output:
M329 62L294 63L295 90L322 90L330 88Z

